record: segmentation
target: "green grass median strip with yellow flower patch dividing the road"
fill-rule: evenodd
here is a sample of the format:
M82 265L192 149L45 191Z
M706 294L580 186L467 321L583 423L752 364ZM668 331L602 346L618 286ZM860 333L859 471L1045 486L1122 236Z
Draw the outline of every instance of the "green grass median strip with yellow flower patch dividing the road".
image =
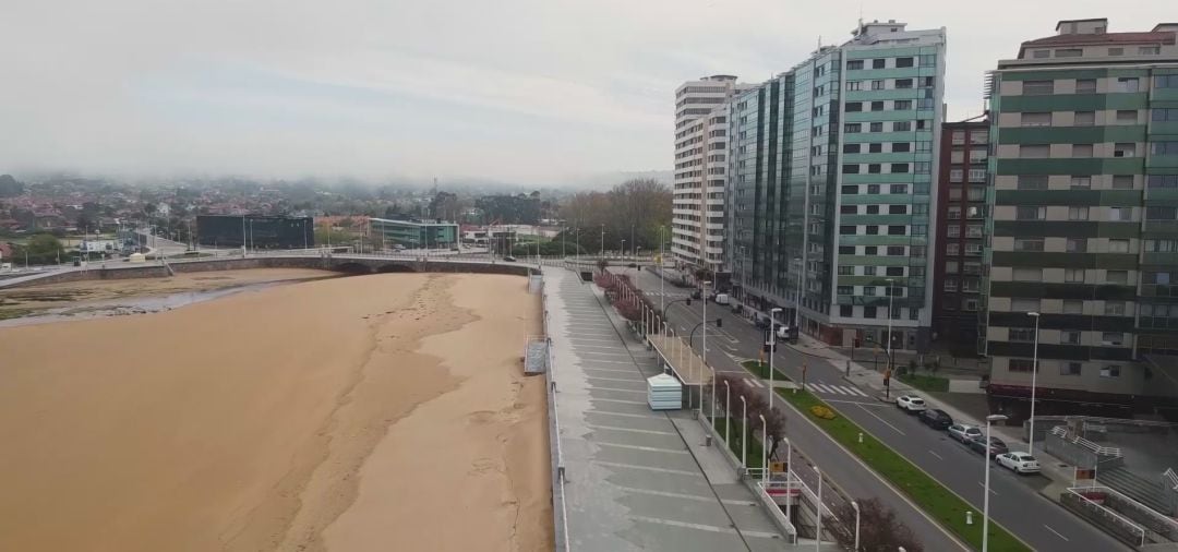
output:
M823 420L809 413L812 406L830 407L808 391L777 390L777 394L801 411L801 415L818 424L843 447L863 460L865 464L884 475L895 487L904 491L928 516L955 533L961 540L974 548L981 548L981 514L973 506L929 477L906 458L880 443L879 439L865 432L855 423L843 415L833 420ZM830 408L838 412L836 408ZM859 443L859 435L863 441ZM974 512L977 521L965 524L965 512ZM995 523L990 524L990 550L1030 551L1031 548Z

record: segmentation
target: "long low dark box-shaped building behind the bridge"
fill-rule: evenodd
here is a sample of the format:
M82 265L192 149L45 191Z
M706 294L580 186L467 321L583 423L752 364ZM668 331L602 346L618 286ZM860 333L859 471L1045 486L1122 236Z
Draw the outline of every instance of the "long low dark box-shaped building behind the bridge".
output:
M315 246L311 217L199 215L197 240L213 247L297 250Z

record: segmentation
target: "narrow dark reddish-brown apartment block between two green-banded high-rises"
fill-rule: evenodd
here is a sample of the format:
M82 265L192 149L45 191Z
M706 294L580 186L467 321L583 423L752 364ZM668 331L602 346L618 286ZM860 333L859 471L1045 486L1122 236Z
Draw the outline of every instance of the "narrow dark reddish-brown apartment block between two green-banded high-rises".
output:
M941 127L933 247L933 335L954 354L978 352L986 188L992 179L990 124L984 118Z

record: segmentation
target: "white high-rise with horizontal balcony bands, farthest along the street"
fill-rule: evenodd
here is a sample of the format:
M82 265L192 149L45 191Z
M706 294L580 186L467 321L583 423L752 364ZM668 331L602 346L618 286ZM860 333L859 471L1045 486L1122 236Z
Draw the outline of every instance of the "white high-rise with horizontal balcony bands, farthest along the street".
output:
M726 271L727 101L740 89L732 75L706 77L675 89L670 251L684 267Z

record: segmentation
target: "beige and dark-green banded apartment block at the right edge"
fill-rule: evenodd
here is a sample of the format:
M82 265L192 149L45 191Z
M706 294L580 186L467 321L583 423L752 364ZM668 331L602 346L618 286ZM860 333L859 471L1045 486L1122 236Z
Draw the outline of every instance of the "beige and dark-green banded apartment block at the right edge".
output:
M1060 21L990 95L991 403L1178 408L1178 25ZM1038 331L1037 328L1038 321Z

